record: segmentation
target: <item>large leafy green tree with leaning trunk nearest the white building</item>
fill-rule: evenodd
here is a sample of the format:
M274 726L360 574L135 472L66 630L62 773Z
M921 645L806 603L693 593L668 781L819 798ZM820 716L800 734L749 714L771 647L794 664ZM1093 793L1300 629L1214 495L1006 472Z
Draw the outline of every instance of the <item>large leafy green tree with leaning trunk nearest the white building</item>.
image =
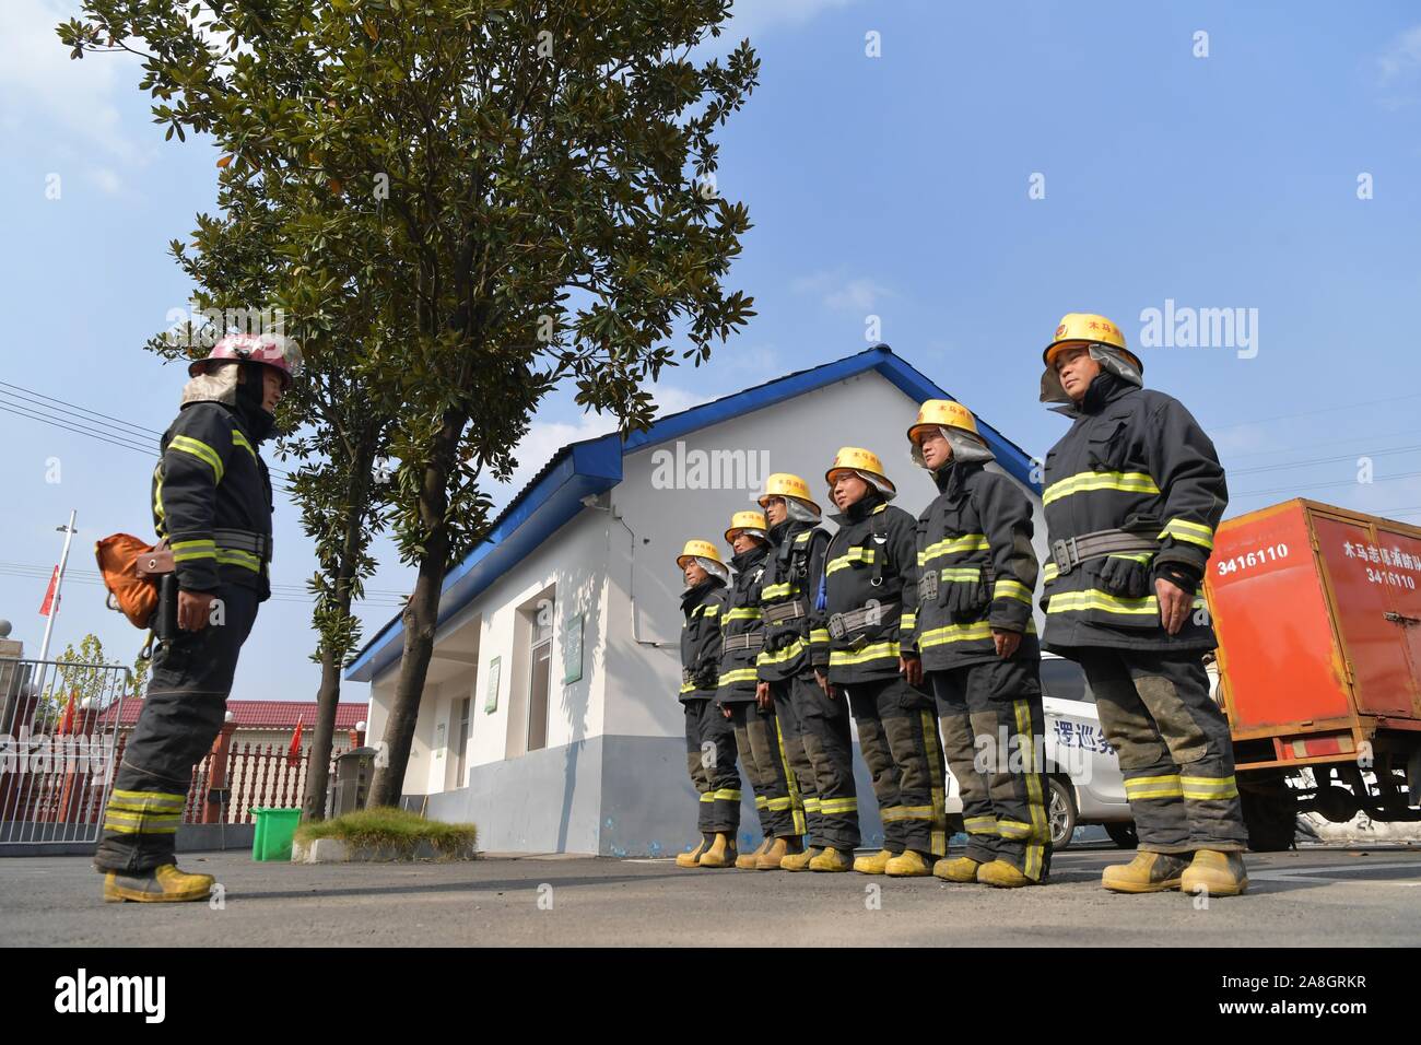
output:
M399 461L391 522L416 566L387 722L404 781L446 569L487 532L539 401L645 427L642 384L699 364L753 311L722 282L750 227L715 186L716 128L753 91L749 41L692 50L730 0L85 0L75 57L132 50L169 136L212 135L222 179L324 192L293 301L358 287L379 327L374 388Z

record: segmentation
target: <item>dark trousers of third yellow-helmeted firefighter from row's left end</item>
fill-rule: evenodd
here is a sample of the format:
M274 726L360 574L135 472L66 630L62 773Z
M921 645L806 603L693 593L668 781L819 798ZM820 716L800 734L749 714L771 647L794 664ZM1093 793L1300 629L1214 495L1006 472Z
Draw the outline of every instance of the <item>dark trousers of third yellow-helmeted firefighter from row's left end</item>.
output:
M810 845L854 852L858 846L858 792L854 788L854 738L848 705L830 700L813 671L770 682L784 746L804 799Z

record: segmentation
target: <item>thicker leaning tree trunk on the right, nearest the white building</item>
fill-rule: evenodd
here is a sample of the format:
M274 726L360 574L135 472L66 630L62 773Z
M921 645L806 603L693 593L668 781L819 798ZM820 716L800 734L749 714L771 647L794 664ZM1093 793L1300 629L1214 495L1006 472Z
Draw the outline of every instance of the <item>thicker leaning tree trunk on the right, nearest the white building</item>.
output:
M459 439L468 424L460 411L446 411L443 427L435 439L433 455L425 468L419 489L419 516L426 539L419 559L415 591L405 606L405 648L399 660L399 680L385 719L385 758L375 768L369 785L369 806L398 806L404 791L409 746L415 738L419 704L425 694L425 675L435 648L435 627L439 616L439 594L443 589L445 566L449 562L449 476L453 473Z

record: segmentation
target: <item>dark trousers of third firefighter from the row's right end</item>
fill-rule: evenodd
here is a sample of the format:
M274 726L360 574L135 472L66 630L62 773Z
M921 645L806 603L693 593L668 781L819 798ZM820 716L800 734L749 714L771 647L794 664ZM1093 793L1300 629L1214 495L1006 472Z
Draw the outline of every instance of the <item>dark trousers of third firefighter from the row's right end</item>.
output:
M884 849L948 852L946 769L932 698L901 675L841 687L874 781Z

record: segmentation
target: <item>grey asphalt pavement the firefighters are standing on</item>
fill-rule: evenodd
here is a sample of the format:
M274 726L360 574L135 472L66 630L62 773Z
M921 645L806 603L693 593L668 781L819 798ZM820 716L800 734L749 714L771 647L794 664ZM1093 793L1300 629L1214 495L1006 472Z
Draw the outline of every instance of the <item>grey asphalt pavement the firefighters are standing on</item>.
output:
M1128 859L1130 853L1124 854ZM682 870L671 860L480 857L270 864L188 854L210 904L105 904L87 857L0 859L6 945L1296 945L1421 944L1421 847L1249 854L1235 899L1115 896L1108 846L1057 853L1046 887Z

